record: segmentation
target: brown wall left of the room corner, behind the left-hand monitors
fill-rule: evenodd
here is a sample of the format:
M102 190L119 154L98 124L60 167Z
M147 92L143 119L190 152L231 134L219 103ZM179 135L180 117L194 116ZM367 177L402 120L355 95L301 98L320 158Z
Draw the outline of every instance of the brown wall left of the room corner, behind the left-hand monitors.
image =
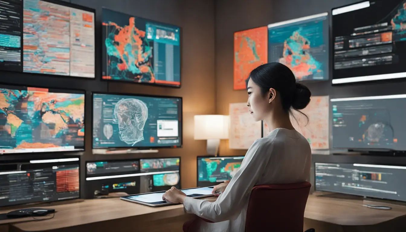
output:
M205 141L193 139L193 116L214 114L214 1L213 0L66 0L96 9L96 46L101 48L102 7L181 27L181 88L100 80L101 49L96 50L96 79L63 78L19 73L0 74L0 82L50 88L86 89L86 150L81 156L82 197L86 191L86 160L181 156L181 187L196 186L196 156L204 155ZM92 154L91 91L143 93L183 97L183 148L160 149L156 154ZM27 155L24 158L39 157ZM9 157L10 158L10 157ZM1 159L1 158L0 158Z

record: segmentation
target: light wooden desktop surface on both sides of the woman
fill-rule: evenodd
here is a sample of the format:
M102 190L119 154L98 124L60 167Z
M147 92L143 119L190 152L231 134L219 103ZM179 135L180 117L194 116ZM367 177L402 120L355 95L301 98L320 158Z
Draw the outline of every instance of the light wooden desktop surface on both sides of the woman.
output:
M337 225L375 225L398 217L406 217L406 206L391 204L391 210L377 210L362 206L362 199L337 199L309 195L304 217ZM216 197L206 198L214 201ZM46 207L44 207L46 208ZM46 231L70 228L79 225L124 219L136 221L156 221L184 215L183 205L149 207L118 198L87 199L84 202L50 206L56 212L53 219L32 221L32 218L0 221L11 223L17 231ZM0 213L10 210L1 210ZM29 220L29 221L27 221ZM135 221L134 221L135 220Z

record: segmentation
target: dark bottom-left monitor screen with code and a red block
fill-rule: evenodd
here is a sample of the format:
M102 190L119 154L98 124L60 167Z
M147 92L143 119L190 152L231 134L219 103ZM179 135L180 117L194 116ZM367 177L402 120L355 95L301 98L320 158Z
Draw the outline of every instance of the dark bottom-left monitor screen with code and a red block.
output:
M0 206L80 197L79 158L0 164Z

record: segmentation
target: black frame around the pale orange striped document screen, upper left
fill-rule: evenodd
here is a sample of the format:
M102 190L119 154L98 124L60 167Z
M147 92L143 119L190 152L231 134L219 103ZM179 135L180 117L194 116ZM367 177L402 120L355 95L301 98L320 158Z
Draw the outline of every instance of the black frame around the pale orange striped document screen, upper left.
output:
M84 7L82 5L74 4L74 3L71 3L71 2L65 2L65 1L62 1L62 0L41 0L41 1L50 2L50 3L61 5L61 6L64 6L64 7L71 7L71 8L74 8L74 9L79 9L79 10L82 10L82 11L88 11L88 12L93 13L93 15L94 15L94 34L95 34L95 38L94 38L94 45L95 45L94 74L95 74L95 76L94 77L84 77L84 76L70 76L70 73L69 73L69 75L60 75L60 74L42 74L42 73L35 73L35 72L24 72L24 59L23 59L24 58L24 49L23 49L23 46L24 46L24 38L23 38L23 34L24 34L24 32L23 32L23 27L24 27L24 0L22 0L22 12L21 12L22 20L20 22L20 27L21 27L20 61L21 61L21 65L18 68L18 70L5 70L5 69L0 68L0 71L1 72L7 72L7 73L21 73L21 74L24 74L24 75L45 76L45 77L50 77L50 78L51 77L56 77L56 78L73 78L73 79L80 79L80 80L96 80L96 77L97 77L97 74L96 74L96 70L97 70L96 58L97 58L97 55L96 55L96 53L97 53L97 50L98 50L96 48L96 36L97 36L96 35L96 26L97 26L96 9L90 8L90 7Z

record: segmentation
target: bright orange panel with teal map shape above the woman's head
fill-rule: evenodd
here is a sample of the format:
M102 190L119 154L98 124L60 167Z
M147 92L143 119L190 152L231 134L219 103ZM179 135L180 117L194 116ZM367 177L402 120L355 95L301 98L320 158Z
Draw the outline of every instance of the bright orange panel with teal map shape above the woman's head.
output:
M234 89L246 89L246 79L259 65L268 62L266 26L234 33Z

